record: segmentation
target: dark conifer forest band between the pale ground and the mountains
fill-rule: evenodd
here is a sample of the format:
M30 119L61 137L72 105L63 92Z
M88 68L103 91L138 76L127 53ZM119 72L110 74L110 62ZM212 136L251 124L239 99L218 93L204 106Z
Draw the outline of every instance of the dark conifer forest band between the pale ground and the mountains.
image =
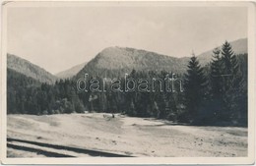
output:
M164 80L174 75L171 72L133 70L128 77ZM201 66L192 55L187 71L175 75L180 82L172 84L172 91L166 90L167 84L162 83L163 90L160 91L160 84L156 84L154 92L83 92L78 90L75 77L48 84L12 69L7 73L8 114L89 111L154 117L191 125L247 126L247 54L235 55L226 41L221 49L213 50L212 61L206 66ZM117 79L124 82L123 77Z

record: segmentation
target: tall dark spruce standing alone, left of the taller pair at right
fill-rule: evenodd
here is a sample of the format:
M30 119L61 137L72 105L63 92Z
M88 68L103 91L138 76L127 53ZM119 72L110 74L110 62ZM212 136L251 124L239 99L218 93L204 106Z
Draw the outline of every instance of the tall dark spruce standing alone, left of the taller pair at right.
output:
M195 55L191 57L187 74L185 74L184 92L185 104L187 108L188 118L194 120L202 105L204 99L204 88L206 85L206 78L204 76L203 68Z

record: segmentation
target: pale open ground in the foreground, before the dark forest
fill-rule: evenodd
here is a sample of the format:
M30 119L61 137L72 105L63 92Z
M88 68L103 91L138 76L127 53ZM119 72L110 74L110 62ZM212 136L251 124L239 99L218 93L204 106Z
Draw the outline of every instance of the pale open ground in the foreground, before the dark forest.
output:
M144 157L247 156L246 128L182 126L101 113L8 115L7 122L8 157L94 156L68 147Z

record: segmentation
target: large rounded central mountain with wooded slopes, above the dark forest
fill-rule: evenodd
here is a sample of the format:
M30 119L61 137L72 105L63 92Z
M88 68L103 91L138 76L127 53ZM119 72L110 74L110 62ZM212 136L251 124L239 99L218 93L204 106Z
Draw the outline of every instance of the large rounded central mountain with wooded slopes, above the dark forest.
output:
M184 73L187 61L155 52L124 47L108 47L103 49L77 75L81 78L85 73L99 77L118 77L136 71L171 71Z

